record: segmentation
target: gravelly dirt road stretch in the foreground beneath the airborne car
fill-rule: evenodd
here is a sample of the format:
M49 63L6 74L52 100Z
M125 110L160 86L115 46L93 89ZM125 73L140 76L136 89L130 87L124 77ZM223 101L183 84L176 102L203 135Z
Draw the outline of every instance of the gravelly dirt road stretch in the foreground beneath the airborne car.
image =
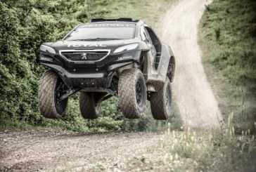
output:
M0 171L114 171L158 144L155 133L0 133ZM96 170L97 169L97 170Z

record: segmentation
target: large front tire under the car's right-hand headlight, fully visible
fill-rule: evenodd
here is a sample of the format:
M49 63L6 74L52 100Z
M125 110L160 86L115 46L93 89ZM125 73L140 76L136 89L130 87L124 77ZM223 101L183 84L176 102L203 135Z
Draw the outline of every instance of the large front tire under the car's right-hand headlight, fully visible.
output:
M140 91L136 91L136 86L141 87L141 89L139 89ZM140 70L129 69L124 70L122 74L120 74L118 81L118 97L118 107L122 111L122 114L124 114L124 117L128 119L138 119L143 116L144 110L146 109L147 92L146 81Z

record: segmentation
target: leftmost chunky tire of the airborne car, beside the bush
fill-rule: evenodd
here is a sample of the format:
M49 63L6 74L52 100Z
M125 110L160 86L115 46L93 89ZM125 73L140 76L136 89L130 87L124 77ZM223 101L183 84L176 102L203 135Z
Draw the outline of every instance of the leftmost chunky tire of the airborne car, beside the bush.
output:
M39 81L39 111L46 118L58 119L65 116L68 98L56 102L56 88L61 81L56 72L51 70L45 72Z

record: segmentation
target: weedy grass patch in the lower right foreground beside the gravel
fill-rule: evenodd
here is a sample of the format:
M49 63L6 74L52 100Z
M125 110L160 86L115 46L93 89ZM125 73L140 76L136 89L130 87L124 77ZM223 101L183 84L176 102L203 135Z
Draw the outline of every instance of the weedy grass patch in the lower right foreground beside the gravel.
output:
M173 131L160 143L171 171L255 171L255 146L254 136L189 129Z

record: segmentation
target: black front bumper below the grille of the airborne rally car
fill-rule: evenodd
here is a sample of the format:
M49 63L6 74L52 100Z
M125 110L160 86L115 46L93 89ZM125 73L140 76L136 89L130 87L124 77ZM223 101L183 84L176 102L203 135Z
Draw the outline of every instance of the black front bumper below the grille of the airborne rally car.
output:
M39 63L56 71L70 88L109 88L113 74L131 65L140 57L140 51L132 52L132 59L119 60L120 55L109 55L101 61L79 63L66 60L61 55L41 52Z

